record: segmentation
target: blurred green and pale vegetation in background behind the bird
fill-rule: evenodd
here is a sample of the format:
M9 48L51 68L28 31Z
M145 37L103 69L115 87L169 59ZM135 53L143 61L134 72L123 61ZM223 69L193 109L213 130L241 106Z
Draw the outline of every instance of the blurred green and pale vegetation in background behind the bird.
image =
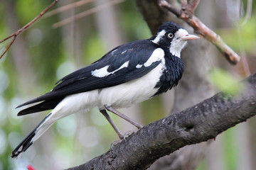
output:
M31 21L51 2L1 0L0 39ZM60 0L55 8L74 2ZM41 18L18 36L9 52L0 60L0 169L26 169L28 164L36 169L65 169L106 152L111 143L118 140L107 120L97 108L93 108L90 113L78 113L59 120L20 159L10 158L16 145L48 113L17 117L19 109L15 108L18 104L45 94L58 79L94 62L113 47L151 36L132 0L120 1L114 6L108 4L100 11L56 28L58 22L65 18L106 3L103 0L92 1ZM218 53L214 60L209 60L212 72L206 79L213 78L217 92L230 82L256 71L256 23L254 6L251 18L245 21L247 1L215 0L213 4L216 17L209 27L220 33L225 42L242 56L242 62L235 67L230 66ZM8 42L0 44L0 52L5 50L6 45ZM171 100L168 97L170 93L123 109L122 112L146 125L169 114L171 101L166 98ZM122 132L134 129L123 120L111 116ZM217 137L198 169L210 169L212 164L215 164L215 169L253 169L256 166L255 121L252 118L248 123Z

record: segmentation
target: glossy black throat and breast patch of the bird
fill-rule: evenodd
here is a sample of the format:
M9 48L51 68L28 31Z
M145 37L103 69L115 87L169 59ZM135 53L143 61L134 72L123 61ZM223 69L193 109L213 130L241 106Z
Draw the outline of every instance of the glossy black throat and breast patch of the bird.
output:
M154 96L163 94L178 84L183 73L183 62L181 58L171 55L170 52L165 52L165 69L156 83L155 88L158 89Z

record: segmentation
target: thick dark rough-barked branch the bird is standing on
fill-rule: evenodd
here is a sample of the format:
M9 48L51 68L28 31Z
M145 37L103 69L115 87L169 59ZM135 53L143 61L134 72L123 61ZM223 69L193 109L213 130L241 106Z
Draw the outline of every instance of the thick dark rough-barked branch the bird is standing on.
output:
M100 157L71 169L146 169L156 159L186 145L214 139L218 134L256 115L256 73L241 81L237 95L215 96L156 120Z

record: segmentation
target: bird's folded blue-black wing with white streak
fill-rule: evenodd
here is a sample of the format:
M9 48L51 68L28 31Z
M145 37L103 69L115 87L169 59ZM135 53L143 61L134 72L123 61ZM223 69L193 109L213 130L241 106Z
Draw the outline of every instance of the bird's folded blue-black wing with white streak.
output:
M57 86L55 86L52 91L23 103L18 107L43 101L48 104L46 108L49 109L53 107L53 104L49 104L51 103L50 101L54 101L53 103L55 105L56 101L61 101L62 98L70 94L103 89L138 79L150 72L161 62L157 60L152 62L149 66L144 66L144 63L151 57L151 54L156 48L157 47L149 40L137 40L120 45L104 55L100 60L60 79L57 82ZM122 68L125 62L129 62L129 64L127 67ZM92 74L96 69L99 70L106 66L108 67L105 73L110 73L107 76L97 77ZM41 103L39 103L38 106L40 106L40 104Z

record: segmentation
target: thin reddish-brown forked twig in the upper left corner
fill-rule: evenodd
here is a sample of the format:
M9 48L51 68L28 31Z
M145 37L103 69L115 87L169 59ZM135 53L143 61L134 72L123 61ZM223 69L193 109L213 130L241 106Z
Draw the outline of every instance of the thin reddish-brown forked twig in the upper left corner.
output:
M16 40L17 36L23 32L23 30L26 30L26 28L28 28L29 26L31 26L34 22L36 22L38 20L38 18L41 18L41 16L43 16L44 13L46 13L51 7L53 7L59 0L55 0L53 1L52 4L50 4L49 6L47 6L47 8L45 8L41 13L38 14L38 16L36 16L36 18L33 18L32 21L30 21L29 23L27 23L25 26L23 26L21 29L17 30L15 33L12 33L11 35L9 35L8 37L4 38L3 40L0 40L1 42L4 42L6 40L9 40L9 38L13 38L13 40L11 40L9 46L6 48L6 50L4 51L4 53L0 56L0 60L1 58L6 54L6 52L9 50L9 48L11 47L11 45L14 43L14 40Z

